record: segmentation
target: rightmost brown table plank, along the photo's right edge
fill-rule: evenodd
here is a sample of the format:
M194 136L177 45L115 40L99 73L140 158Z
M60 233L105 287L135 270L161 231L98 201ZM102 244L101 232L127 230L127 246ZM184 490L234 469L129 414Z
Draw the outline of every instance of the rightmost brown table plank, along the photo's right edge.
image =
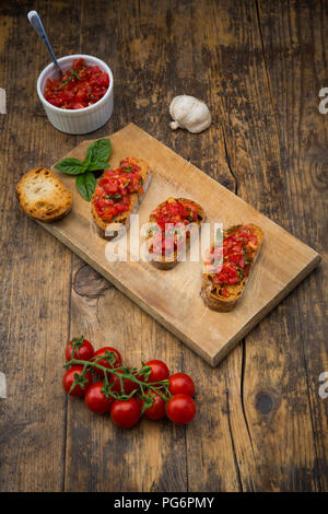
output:
M324 257L320 268L292 295L286 308L290 335L301 355L306 395L300 392L300 369L289 369L289 390L298 401L292 411L306 411L304 423L314 433L314 459L295 441L297 460L289 469L294 489L328 488L327 400L318 394L319 375L328 370L327 352L327 159L328 117L318 109L319 90L327 83L327 2L259 2L259 25L283 164L289 226ZM293 72L291 73L291 70ZM283 344L284 347L284 344ZM295 423L296 420L293 420ZM295 430L303 431L300 424ZM300 434L301 439L302 432ZM297 437L298 439L298 437ZM301 442L301 441L300 441ZM301 453L302 452L302 453ZM298 469L297 469L298 468ZM286 480L283 488L289 488Z

